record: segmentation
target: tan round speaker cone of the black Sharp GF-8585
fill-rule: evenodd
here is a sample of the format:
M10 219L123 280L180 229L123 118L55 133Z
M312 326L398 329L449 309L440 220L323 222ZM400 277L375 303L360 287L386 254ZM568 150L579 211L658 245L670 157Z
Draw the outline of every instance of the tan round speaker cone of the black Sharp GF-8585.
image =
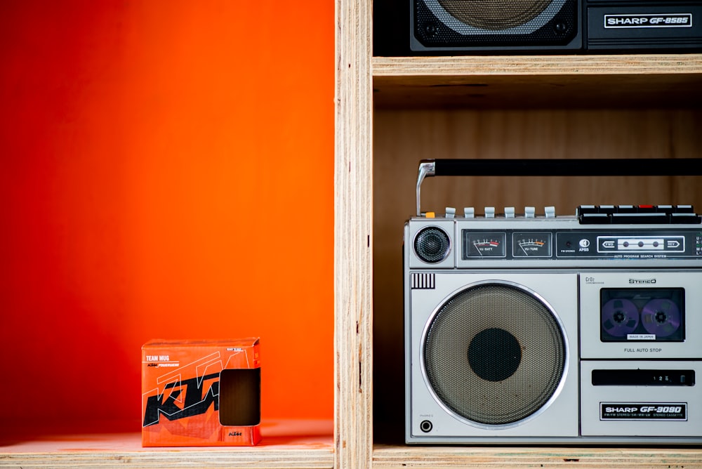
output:
M553 0L438 0L447 13L472 27L509 29L541 14Z

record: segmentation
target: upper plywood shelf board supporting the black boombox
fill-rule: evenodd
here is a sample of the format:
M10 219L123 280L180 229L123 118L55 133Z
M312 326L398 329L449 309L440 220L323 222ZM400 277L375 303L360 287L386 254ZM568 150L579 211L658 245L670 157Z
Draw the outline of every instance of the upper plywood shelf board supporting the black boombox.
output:
M376 109L694 108L702 54L375 57Z

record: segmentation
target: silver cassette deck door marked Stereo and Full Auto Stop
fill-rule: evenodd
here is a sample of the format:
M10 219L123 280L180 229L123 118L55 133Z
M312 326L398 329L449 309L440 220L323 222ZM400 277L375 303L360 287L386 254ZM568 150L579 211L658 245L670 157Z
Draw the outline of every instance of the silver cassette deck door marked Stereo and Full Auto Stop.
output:
M699 359L702 272L581 272L582 359Z

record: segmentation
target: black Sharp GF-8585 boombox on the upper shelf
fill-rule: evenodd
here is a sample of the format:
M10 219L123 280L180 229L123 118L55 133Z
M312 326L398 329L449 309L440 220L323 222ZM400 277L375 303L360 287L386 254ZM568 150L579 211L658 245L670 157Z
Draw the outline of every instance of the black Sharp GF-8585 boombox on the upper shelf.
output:
M702 49L699 0L411 0L416 53Z

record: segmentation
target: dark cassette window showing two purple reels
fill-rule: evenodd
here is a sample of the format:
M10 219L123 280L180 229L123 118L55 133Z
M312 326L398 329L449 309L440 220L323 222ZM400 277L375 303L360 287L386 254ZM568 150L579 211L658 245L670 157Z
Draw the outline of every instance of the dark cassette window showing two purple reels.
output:
M685 340L682 288L600 290L602 342Z

